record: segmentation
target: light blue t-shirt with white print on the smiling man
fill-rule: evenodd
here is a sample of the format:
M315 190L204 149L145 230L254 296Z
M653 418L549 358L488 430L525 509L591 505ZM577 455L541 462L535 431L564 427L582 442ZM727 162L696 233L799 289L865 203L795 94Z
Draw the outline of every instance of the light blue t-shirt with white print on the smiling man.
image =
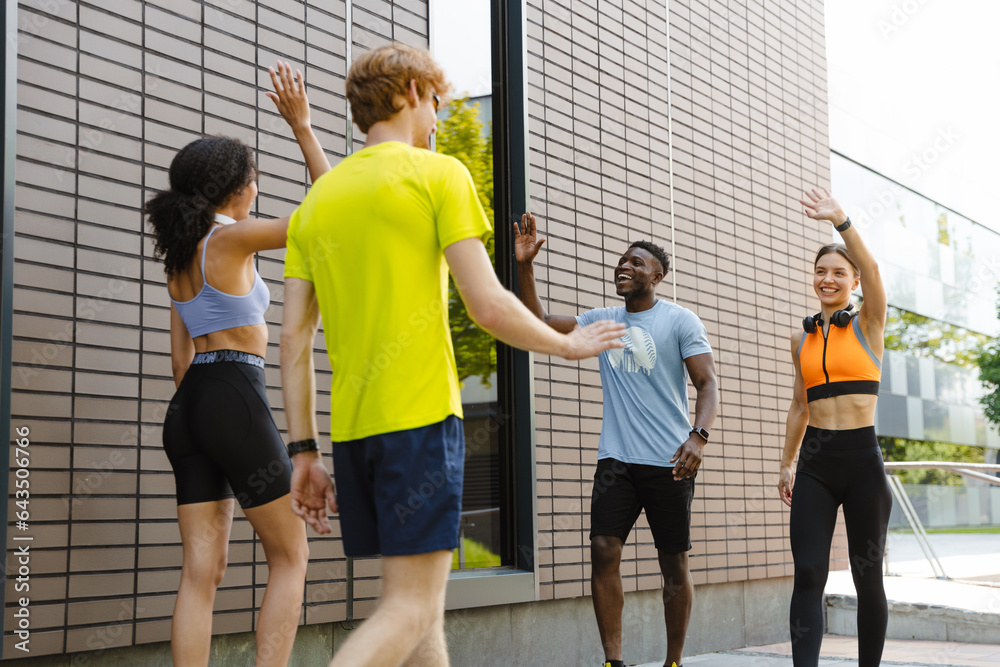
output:
M687 308L661 300L640 313L595 308L576 318L580 326L598 320L624 322L626 331L625 349L598 357L604 423L597 458L669 467L691 433L684 360L712 351L705 325Z

